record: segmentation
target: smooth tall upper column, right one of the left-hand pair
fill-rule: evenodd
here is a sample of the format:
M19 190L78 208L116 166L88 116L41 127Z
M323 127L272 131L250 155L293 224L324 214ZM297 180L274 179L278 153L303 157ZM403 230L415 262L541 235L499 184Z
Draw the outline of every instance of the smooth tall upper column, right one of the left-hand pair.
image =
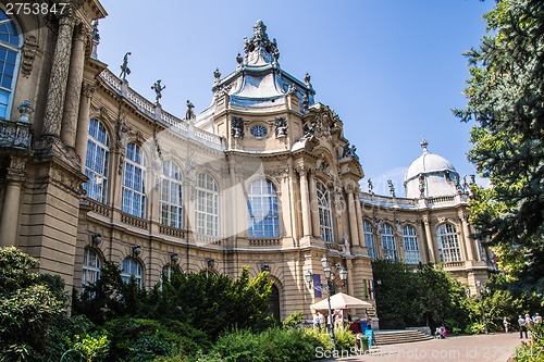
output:
M67 147L75 147L76 126L78 125L78 111L82 104L83 67L85 65L85 45L87 32L79 25L75 32L75 39L70 60L70 73L64 100L64 115L62 117L61 139Z

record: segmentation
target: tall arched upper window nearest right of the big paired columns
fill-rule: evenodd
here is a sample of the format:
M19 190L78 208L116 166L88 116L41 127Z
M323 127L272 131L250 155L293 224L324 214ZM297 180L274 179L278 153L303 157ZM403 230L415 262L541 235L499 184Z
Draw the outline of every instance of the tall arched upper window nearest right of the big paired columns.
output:
M106 203L108 195L108 163L110 159L109 137L103 124L95 118L89 122L85 176L89 180L83 185L87 196Z

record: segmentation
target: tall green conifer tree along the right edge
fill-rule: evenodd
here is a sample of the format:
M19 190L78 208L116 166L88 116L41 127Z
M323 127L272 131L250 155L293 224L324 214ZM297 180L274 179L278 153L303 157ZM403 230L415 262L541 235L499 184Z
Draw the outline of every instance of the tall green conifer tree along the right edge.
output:
M489 189L475 189L471 223L496 247L521 290L544 291L544 1L497 0L471 64L463 122L475 121L470 161Z

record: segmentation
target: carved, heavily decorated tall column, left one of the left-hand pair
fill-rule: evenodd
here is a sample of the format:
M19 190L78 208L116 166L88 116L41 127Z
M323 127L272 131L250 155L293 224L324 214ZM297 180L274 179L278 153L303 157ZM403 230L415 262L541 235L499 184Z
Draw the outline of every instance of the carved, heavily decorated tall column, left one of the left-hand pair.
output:
M61 134L73 33L74 20L71 16L62 16L59 20L59 36L54 47L51 75L49 77L44 136L59 137Z

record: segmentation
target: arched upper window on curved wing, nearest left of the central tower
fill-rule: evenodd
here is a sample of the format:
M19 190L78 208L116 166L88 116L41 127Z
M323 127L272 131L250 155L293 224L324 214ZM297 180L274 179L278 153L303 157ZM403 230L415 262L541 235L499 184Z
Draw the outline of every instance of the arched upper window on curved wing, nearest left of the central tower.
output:
M197 233L217 236L219 235L218 183L209 174L199 174L196 190L195 222Z

